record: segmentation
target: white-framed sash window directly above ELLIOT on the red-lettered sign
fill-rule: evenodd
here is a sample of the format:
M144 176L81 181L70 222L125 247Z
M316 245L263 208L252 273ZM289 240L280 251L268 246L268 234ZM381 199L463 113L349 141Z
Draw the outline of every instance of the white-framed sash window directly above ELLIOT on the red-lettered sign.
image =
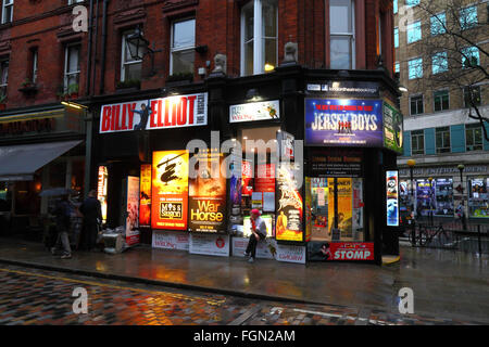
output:
M170 70L175 74L193 74L196 47L196 20L185 20L172 24L172 53Z

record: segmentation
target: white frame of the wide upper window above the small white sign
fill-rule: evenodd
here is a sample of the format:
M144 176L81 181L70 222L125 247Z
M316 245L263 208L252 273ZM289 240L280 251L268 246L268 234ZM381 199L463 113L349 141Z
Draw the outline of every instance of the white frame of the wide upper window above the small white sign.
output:
M248 2L246 5L241 9L241 76L246 75L246 61L244 61L244 9L253 7L253 75L260 75L265 73L265 60L264 60L264 44L263 40L266 38L265 34L263 33L263 11L262 5L263 2L266 2L266 0L252 0ZM277 42L276 44L276 52L275 56L277 56L277 64L278 64L278 1L276 1L276 21L277 28L275 30L276 36L275 40ZM256 18L259 18L256 21ZM268 37L269 38L269 37Z

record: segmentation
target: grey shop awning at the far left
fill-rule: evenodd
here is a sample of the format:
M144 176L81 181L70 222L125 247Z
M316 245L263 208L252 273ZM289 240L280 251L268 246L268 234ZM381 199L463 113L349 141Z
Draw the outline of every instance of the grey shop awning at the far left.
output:
M37 169L80 142L82 140L0 146L0 181L29 181Z

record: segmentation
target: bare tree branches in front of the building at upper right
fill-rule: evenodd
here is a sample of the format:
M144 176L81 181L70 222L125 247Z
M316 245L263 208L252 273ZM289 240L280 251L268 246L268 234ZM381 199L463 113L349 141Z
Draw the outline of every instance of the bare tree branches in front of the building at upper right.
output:
M489 115L482 114L477 92L480 90L477 86L489 81L489 8L481 0L472 2L471 7L467 4L471 3L466 0L419 1L416 17L423 23L423 38L415 50L425 57L428 74L418 79L418 83L423 83L418 88L464 90L468 117L479 120L484 137L489 141L484 125L489 121ZM482 8L485 11L477 11Z

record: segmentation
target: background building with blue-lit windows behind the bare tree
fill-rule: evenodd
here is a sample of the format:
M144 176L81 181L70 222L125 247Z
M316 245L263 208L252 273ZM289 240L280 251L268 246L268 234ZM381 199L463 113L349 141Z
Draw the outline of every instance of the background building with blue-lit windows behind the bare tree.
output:
M454 217L463 200L469 218L489 218L487 1L393 4L394 70L408 88L400 98L402 208ZM415 160L412 191L409 159Z

